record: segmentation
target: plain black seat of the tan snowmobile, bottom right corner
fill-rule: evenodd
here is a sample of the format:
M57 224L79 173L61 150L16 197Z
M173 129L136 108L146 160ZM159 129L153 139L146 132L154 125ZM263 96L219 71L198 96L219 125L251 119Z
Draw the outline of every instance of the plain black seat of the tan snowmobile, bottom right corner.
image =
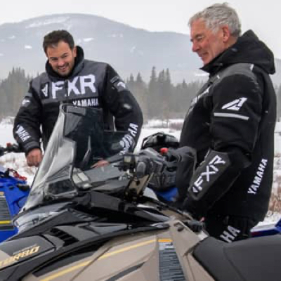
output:
M226 243L208 237L193 256L218 281L264 281L281 278L281 235Z

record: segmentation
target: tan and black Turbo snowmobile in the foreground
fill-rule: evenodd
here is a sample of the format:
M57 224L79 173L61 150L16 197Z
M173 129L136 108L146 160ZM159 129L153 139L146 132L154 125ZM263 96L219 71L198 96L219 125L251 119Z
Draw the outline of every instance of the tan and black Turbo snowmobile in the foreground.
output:
M208 237L146 188L169 162L120 155L126 132L102 124L100 110L61 105L19 232L0 244L0 280L280 280L280 235Z

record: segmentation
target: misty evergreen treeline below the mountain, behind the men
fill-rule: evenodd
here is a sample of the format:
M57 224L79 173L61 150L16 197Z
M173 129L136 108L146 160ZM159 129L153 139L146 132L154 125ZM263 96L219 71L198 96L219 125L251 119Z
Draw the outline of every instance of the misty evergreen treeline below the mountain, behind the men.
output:
M13 68L8 77L0 81L0 118L15 116L28 91L32 77L25 74L25 70ZM169 69L157 73L152 67L150 81L145 83L138 73L126 79L126 85L141 105L145 120L151 118L169 119L183 118L190 105L190 100L202 86L202 82L195 81L174 85L171 81Z

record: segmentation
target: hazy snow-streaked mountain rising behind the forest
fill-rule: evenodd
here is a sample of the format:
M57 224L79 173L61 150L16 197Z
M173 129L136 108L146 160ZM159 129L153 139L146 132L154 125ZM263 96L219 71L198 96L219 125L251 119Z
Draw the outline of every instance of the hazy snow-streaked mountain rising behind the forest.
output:
M73 13L0 25L0 78L5 78L13 67L22 67L31 75L43 72L43 37L61 29L72 33L76 44L84 48L86 58L110 63L124 79L141 72L148 81L153 66L157 71L169 68L173 82L206 78L198 70L202 63L192 53L186 34L148 32L96 15ZM277 70L274 80L279 85L280 60Z

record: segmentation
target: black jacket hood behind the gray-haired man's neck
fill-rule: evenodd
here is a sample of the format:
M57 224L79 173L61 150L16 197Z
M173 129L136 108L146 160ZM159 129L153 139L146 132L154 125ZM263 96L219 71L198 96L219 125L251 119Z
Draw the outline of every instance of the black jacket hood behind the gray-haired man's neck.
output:
M214 74L221 68L235 63L253 63L268 74L275 73L273 52L259 40L252 30L245 32L237 39L235 44L214 58L214 60L211 60L210 63L204 65L202 70Z

